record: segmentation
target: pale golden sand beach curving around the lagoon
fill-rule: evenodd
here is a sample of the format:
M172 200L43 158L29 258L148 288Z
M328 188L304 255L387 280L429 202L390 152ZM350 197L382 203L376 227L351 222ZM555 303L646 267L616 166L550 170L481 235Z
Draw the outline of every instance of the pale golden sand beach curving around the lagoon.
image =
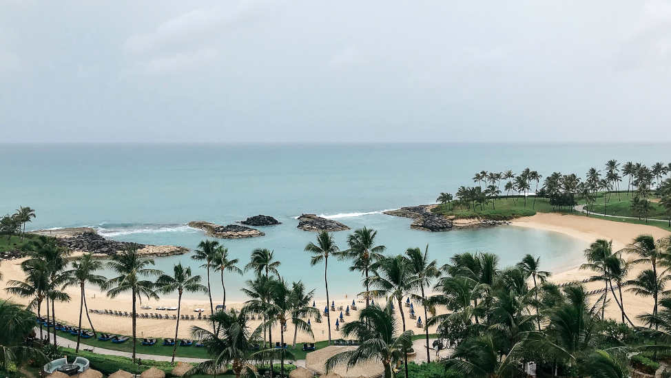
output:
M662 238L668 236L670 233L663 229L657 227L646 226L642 224L627 224L621 222L612 222L609 220L600 220L595 218L586 218L584 216L570 216L570 215L560 215L556 213L538 213L535 216L527 218L519 218L513 222L513 225L518 227L530 227L535 229L544 229L547 231L555 231L559 233L564 233L570 235L574 238L579 238L585 242L593 242L598 238L603 238L606 240L612 240L613 249L615 251L623 248L631 242L633 238L637 235L643 233L648 233L654 236L654 238ZM519 258L522 258L522 252L520 253ZM628 256L630 258L630 256ZM0 297L8 298L8 294L4 290L7 285L7 282L10 280L22 280L23 272L21 271L22 260L10 260L4 261L0 267L3 272L4 280L0 282ZM444 263L444 262L441 262ZM562 271L553 271L552 281L561 283L574 280L582 280L586 277L590 277L592 273L590 271L584 271L579 269L580 264L583 261L576 259L575 264L571 264L570 269L564 269ZM544 269L552 271L551 266L544 266ZM643 269L643 266L636 266L632 269L630 277L634 277ZM586 284L588 290L601 288L601 283L589 283ZM72 296L73 300L70 303L57 303L56 304L56 318L61 322L68 324L77 324L79 317L79 301L76 300L79 297L79 291L76 288L68 289L68 293ZM352 295L355 293L331 293L331 299L336 302L336 308L340 306L346 307L352 302ZM347 297L346 297L347 295ZM628 314L632 319L631 315L636 315L646 311L650 311L652 308L652 302L648 297L636 297L630 293L624 293L624 303L627 308ZM592 297L596 299L595 297ZM15 302L27 303L28 300L12 297ZM219 301L219 298L214 299L214 304L216 305ZM317 308L320 308L320 311L323 310L326 306L325 298L317 298ZM118 311L131 311L130 295L125 295L117 297L115 299L110 299L104 293L97 291L94 288L87 289L87 304L90 309L97 310L118 310ZM162 306L176 306L176 300L174 299L164 299L159 301L148 301L144 302L143 305L152 306L151 310L138 309L140 313L161 313L165 314L176 314L176 311L156 311L154 308L157 305ZM240 308L241 303L227 303L229 307ZM358 302L358 306L362 307L362 303ZM182 300L182 313L188 315L194 315L197 317L197 313L194 312L195 308L205 308L206 313L209 313L209 301L207 297L201 296L197 299L183 299ZM404 308L406 313L406 324L409 329L415 330L415 333L422 332L421 328L418 328L415 324L415 320L409 319L408 308ZM415 306L415 311L417 315L422 315L424 320L424 311L421 306ZM340 311L336 311L334 315L339 315ZM352 311L351 316L345 317L346 321L351 321L357 316L357 311ZM606 310L606 315L613 319L619 319L619 308L615 303L612 303ZM99 315L99 314L90 314L96 330L103 331L106 333L116 333L122 335L130 335L131 333L131 319L130 317L117 317L113 315ZM336 318L331 317L331 337L337 339L340 337L340 333L336 331L335 327ZM313 342L315 340L327 339L328 330L326 318L323 318L322 323L314 322L314 319L311 321L313 327L314 337L298 333L297 342ZM174 326L175 321L170 319L138 319L138 337L174 337ZM257 326L260 324L259 320L252 321L252 326ZM190 336L191 326L202 326L207 327L207 322L205 320L188 320L180 322L180 332L179 337L188 338ZM83 327L88 327L86 318L83 317L82 322ZM285 333L285 342L291 343L293 340L293 328L291 324L288 325L289 329ZM433 332L434 330L430 330ZM273 330L273 342L279 341L280 332L279 328Z

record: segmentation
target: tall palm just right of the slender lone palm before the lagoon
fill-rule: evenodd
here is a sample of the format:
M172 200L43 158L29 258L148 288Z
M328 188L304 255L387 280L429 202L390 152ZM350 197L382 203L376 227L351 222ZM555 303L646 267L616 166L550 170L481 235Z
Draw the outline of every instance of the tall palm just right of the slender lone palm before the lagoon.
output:
M377 235L378 231L367 229L366 227L354 231L354 233L347 236L347 245L349 245L349 249L343 251L341 255L342 257L353 260L353 264L349 267L349 270L360 271L364 276L364 282L366 282L368 278L371 264L384 258L382 253L384 252L384 249L386 249L386 246L375 245L375 236ZM366 286L366 291L369 291L368 286ZM370 298L366 296L366 306L369 304Z

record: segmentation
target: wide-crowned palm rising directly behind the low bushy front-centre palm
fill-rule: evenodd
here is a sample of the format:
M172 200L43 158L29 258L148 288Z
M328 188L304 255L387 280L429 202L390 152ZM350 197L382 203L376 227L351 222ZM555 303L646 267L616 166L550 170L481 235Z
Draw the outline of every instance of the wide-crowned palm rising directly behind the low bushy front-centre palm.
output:
M395 258L384 258L373 264L375 275L368 278L367 283L376 288L369 291L374 298L395 300L401 315L403 332L406 330L403 300L420 287L422 279L413 273L409 261L402 255ZM408 357L404 357L405 377L408 378Z

